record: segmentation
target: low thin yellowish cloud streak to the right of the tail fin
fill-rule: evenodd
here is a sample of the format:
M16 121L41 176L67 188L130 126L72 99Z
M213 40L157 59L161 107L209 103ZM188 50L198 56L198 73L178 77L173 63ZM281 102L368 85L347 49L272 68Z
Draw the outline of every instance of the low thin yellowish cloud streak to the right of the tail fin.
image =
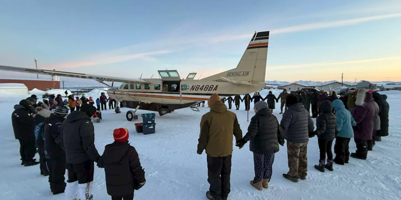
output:
M267 66L268 70L281 70L281 69L292 69L292 68L302 68L302 67L317 67L317 66L332 66L332 65L343 65L343 64L358 64L364 62L376 62L383 60L399 60L401 56L396 57L385 57L385 58L373 58L366 60L348 60L342 62L317 62L317 63L308 63L308 64L295 64L295 65L276 65L276 66Z

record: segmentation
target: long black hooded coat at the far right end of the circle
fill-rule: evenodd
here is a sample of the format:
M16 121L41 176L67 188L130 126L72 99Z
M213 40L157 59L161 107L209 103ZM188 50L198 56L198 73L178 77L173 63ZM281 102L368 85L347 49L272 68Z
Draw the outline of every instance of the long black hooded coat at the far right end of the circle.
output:
M379 106L379 117L380 117L380 136L389 135L389 104L387 101L377 92L373 92L373 99Z

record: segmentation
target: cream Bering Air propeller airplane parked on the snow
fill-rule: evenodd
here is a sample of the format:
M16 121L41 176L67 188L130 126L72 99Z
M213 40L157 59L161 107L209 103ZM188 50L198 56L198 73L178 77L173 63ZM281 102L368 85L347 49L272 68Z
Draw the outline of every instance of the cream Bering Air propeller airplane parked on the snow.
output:
M162 116L186 107L199 111L196 105L208 100L213 93L225 98L249 94L264 88L268 42L269 31L255 32L237 68L201 80L194 79L196 73L190 73L185 79L181 79L177 70L159 70L160 78L143 79L12 66L0 66L0 70L93 79L109 87L107 94L117 101L117 105L120 103L127 108L157 111ZM112 84L105 82L112 82ZM122 84L114 88L114 82L122 82ZM119 106L115 108L115 112L120 112ZM133 110L129 110L126 114L127 120L132 121L134 114Z

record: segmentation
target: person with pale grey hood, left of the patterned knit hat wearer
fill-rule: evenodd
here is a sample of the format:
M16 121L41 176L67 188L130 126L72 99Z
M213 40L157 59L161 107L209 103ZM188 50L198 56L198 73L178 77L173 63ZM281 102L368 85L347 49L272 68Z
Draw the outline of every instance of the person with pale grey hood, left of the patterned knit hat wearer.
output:
M49 176L47 168L47 158L45 156L45 120L50 117L50 110L41 106L36 107L37 115L35 116L35 139L38 148L41 175Z

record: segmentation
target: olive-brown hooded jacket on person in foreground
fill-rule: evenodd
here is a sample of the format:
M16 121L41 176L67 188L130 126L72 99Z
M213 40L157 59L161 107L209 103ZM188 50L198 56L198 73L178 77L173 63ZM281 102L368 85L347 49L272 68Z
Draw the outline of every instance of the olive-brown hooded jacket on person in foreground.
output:
M201 154L205 149L211 157L229 156L233 153L233 135L236 141L242 139L237 115L228 111L222 101L217 101L210 108L201 119L197 152Z

